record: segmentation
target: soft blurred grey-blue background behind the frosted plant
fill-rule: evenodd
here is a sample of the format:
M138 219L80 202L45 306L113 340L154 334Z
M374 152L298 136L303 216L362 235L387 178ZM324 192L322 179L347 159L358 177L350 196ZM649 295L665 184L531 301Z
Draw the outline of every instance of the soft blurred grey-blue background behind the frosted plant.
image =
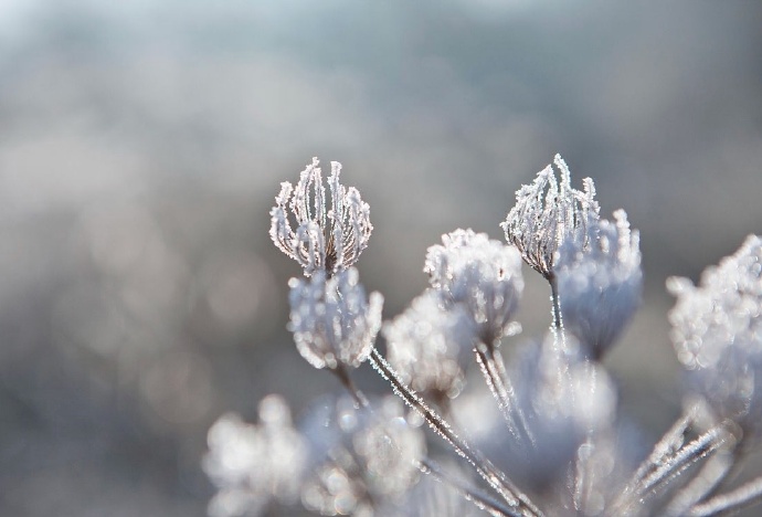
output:
M313 156L370 203L387 318L442 233L502 239L555 152L592 177L641 230L608 363L654 440L680 403L665 278L762 232L761 27L759 2L0 0L0 515L204 515L221 413L338 389L285 331L300 270L267 236ZM525 271L517 341L549 324Z

